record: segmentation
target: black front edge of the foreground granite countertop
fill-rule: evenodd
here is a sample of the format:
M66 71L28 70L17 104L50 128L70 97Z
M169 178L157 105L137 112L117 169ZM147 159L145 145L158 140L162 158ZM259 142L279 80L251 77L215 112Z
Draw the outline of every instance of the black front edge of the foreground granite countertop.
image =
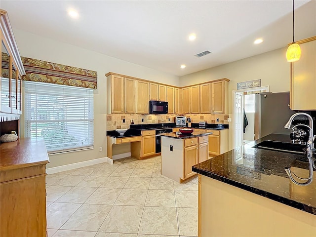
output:
M206 177L209 177L209 178L212 178L212 179L216 179L216 180L221 181L223 183L235 186L237 188L249 191L251 193L260 195L262 197L267 197L269 199L275 200L275 201L283 203L285 205L288 205L288 206L297 208L299 210L306 211L308 213L316 215L316 207L313 207L313 206L310 206L310 205L306 205L306 204L303 204L303 203L300 203L300 202L297 202L297 201L293 201L293 200L287 199L285 197L280 197L280 196L278 196L276 194L272 194L272 193L269 193L269 192L266 192L266 191L262 191L260 189L256 189L256 188L253 188L253 187L250 187L250 186L238 183L238 182L236 182L234 180L230 180L230 179L225 178L223 176L211 173L210 171L201 170L201 169L199 169L199 168L197 168L195 166L192 166L192 171L197 172L198 174L204 175Z

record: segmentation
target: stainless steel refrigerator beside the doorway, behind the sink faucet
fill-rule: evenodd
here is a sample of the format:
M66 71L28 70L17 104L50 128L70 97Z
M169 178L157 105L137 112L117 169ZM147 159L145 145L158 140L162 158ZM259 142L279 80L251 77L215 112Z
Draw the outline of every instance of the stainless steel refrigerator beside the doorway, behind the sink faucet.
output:
M290 134L283 126L296 111L289 107L290 92L260 93L255 95L255 140L269 135Z

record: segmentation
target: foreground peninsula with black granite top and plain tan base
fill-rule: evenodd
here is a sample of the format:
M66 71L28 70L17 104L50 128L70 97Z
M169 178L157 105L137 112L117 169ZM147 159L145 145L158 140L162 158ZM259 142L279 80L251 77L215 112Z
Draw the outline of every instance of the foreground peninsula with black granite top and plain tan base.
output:
M308 176L304 155L254 148L271 134L193 166L198 177L198 236L316 236L316 171L308 186L293 184L291 167Z

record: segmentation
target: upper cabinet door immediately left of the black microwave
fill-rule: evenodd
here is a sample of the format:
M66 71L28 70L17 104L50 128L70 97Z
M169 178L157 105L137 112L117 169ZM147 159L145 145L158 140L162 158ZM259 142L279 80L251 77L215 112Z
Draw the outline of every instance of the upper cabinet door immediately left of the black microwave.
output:
M149 114L149 82L136 80L136 113Z

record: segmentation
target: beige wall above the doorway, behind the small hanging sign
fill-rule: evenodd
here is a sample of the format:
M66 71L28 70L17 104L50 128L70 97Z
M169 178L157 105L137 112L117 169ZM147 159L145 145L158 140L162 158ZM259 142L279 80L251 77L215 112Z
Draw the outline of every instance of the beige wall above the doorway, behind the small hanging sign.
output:
M228 108L230 118L232 118L232 91L237 89L237 82L261 79L261 85L269 85L272 92L290 90L290 65L286 61L285 52L286 47L186 75L180 77L180 86L221 78L230 79ZM233 147L232 122L229 124L229 149L231 150Z

